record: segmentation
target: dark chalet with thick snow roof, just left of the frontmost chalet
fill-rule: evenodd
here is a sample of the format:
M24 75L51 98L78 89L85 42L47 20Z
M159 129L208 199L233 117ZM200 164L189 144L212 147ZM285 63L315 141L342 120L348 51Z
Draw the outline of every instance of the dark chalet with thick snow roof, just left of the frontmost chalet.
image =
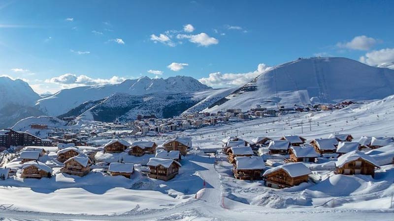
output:
M236 179L261 180L265 169L262 157L235 157L232 172Z

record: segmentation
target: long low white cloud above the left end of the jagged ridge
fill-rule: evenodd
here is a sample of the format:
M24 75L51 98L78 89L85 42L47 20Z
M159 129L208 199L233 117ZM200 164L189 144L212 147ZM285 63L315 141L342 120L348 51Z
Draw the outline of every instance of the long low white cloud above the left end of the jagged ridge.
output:
M102 85L102 84L116 84L125 81L125 78L113 76L110 79L94 79L86 75L64 74L59 77L45 80L45 83L57 83L62 85L83 86L83 85ZM67 87L67 86L66 86Z

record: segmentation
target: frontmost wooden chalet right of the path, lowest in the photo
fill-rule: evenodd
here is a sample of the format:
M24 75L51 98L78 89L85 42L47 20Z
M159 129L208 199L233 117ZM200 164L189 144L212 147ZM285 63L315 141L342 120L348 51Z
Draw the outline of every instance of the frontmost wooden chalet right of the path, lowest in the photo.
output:
M265 170L263 180L265 186L281 189L308 182L311 173L303 163L290 163Z

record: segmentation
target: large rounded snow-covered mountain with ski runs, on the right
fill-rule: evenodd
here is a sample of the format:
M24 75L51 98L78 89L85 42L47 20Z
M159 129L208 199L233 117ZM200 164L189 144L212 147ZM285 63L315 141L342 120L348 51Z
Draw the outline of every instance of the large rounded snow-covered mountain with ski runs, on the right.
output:
M222 98L207 111L229 108L373 100L394 94L394 70L344 57L314 57L278 65Z

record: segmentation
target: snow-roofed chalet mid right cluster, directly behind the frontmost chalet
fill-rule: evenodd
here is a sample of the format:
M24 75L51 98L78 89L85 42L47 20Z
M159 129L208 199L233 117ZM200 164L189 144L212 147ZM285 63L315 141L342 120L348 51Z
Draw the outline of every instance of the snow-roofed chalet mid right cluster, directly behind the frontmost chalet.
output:
M290 158L285 159L285 162L310 162L314 163L316 158L319 156L316 153L315 148L311 145L307 146L292 146L289 149Z

